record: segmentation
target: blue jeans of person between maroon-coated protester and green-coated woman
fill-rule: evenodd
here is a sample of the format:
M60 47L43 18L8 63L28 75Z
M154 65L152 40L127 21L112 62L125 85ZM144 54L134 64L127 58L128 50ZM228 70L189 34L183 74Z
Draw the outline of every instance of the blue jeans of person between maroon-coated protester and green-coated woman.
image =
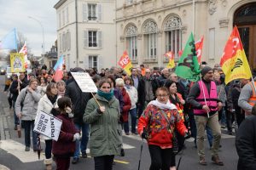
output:
M81 142L79 140L76 140L76 150L73 154L73 158L79 158L80 150L82 153L86 152L87 143L89 140L90 125L87 123L83 123L82 125L75 123L75 127L79 131L82 130Z

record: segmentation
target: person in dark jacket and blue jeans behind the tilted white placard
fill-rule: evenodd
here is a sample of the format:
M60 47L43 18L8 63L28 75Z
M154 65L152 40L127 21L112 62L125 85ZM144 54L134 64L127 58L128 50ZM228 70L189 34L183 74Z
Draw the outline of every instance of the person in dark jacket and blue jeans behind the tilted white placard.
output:
M84 72L83 69L76 67L73 69L73 72ZM72 78L73 79L73 78ZM73 79L72 82L69 82L65 96L69 97L73 103L73 122L75 127L80 131L82 130L82 139L81 141L76 141L76 150L73 156L72 163L75 164L79 161L80 149L82 152L82 157L86 158L86 148L89 140L89 124L83 122L84 111L87 105L87 102L90 99L90 93L82 93L79 85Z

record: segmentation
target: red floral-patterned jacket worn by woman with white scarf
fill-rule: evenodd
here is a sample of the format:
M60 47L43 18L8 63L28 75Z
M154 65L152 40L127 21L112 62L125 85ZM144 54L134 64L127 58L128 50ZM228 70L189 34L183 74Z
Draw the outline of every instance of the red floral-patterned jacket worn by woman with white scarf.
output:
M138 133L143 133L143 127L147 128L150 120L150 126L148 127L148 144L172 148L172 132L167 129L169 123L166 122L162 111L166 112L166 116L169 122L171 122L172 131L175 125L177 132L184 135L187 128L184 126L177 110L160 110L154 105L148 105L143 115L140 116L137 131Z

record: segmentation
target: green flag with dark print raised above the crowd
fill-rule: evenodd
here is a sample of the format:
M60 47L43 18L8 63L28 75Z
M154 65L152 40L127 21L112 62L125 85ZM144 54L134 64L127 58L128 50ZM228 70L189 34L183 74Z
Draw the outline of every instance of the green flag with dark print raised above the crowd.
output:
M195 54L195 40L192 32L183 50L183 54L178 60L175 73L178 77L183 77L192 82L197 82L200 79L200 66Z

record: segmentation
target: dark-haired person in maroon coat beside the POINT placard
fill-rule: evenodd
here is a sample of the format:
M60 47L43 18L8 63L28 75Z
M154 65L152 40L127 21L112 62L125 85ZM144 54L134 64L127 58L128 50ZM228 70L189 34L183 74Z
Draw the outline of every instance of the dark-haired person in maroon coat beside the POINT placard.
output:
M80 134L73 123L71 99L62 97L58 99L57 104L59 114L56 117L61 119L62 124L59 139L52 143L52 153L55 156L56 170L68 170L70 157L73 156L76 149L75 141L80 139Z

